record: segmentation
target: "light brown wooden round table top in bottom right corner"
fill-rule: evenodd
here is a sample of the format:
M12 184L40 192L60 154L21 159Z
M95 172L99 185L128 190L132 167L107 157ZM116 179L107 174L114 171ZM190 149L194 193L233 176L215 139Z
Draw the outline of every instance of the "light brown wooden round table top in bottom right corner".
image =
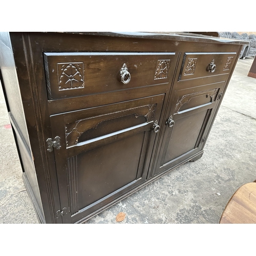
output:
M221 216L220 224L256 223L256 183L241 186L230 198Z

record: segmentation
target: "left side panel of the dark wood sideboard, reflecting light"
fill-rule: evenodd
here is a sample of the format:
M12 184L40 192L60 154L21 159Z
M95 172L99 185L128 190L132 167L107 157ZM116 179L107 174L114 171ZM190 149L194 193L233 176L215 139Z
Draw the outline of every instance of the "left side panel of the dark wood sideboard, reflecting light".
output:
M40 206L40 210L42 211L40 193L36 174L34 172L34 164L32 160L33 156L31 154L30 140L22 98L20 95L11 41L9 33L7 32L0 32L0 68L3 79L2 86L7 100L6 103L9 111L9 117L18 140L17 147L19 148L20 158L24 167L23 169L28 177L28 180L31 182L30 185L33 194L38 205Z

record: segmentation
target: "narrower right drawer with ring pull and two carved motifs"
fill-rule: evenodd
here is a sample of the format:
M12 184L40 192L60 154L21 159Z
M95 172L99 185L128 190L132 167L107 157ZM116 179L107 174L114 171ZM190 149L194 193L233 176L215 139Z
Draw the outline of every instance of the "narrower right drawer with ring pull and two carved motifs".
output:
M178 80L229 74L236 55L236 52L184 53Z

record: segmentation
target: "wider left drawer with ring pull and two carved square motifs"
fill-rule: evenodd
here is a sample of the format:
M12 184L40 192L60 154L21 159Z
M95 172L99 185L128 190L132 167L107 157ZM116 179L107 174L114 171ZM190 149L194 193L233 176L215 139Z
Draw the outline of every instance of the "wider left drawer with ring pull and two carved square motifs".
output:
M44 53L44 59L49 100L168 83L176 65L175 53Z

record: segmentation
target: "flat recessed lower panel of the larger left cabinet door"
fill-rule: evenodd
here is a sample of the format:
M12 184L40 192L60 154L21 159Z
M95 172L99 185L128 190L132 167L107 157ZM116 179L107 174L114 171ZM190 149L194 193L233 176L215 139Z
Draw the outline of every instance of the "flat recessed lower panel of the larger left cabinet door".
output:
M78 209L142 178L140 152L146 142L144 133L139 133L77 155L77 180L83 181L77 188Z

